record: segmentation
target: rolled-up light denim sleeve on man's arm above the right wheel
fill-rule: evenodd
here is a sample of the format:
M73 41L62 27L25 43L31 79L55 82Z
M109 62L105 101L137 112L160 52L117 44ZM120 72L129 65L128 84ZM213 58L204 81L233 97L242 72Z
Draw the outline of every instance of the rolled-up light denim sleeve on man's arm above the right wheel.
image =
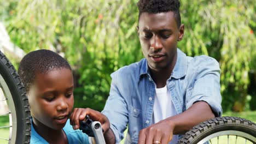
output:
M196 73L188 87L186 109L197 101L205 101L211 106L216 117L222 115L222 96L220 94L220 68L216 59L202 56L191 63Z

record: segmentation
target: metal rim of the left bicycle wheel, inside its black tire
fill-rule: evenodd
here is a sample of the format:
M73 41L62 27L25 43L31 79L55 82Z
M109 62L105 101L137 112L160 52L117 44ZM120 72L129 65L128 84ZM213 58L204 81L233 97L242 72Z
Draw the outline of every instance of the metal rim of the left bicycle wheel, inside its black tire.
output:
M15 105L13 101L13 97L11 97L11 92L9 87L7 86L7 83L3 79L2 75L0 74L0 94L3 95L4 99L0 99L1 103L5 103L8 105L9 112L4 113L2 116L9 115L9 125L1 125L0 128L9 128L9 137L0 137L2 140L9 141L8 143L15 143L16 140L16 131L17 131L17 119L16 119L16 111L15 111Z

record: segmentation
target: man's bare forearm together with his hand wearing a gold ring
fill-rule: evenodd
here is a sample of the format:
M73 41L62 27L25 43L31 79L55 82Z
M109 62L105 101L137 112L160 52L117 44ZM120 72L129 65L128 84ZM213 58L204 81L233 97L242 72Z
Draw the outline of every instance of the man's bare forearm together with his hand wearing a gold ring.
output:
M205 101L197 101L183 113L168 117L150 127L139 131L139 144L166 144L174 134L185 134L196 124L214 117L210 105Z

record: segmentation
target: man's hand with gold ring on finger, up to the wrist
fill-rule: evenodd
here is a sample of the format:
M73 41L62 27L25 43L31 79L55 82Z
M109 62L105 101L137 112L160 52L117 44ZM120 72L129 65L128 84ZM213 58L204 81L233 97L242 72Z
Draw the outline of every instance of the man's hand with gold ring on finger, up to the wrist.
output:
M166 144L172 140L173 130L174 124L164 119L139 131L138 144Z

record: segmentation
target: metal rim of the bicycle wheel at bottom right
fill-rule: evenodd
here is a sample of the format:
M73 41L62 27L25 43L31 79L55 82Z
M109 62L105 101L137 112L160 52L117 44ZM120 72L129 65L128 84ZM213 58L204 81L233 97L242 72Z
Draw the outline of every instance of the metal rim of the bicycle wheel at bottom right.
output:
M219 131L217 133L213 133L211 135L208 135L206 136L205 138L203 138L201 141L198 142L198 144L203 144L207 141L210 141L210 143L218 143L219 142L219 139L223 139L224 137L226 137L228 140L226 141L227 143L237 143L237 139L243 139L245 140L245 143L247 142L252 142L252 143L255 143L256 142L256 137L250 135L250 134L247 134L247 133L244 133L242 131L237 131L237 130L225 130L225 131ZM232 138L235 138L235 140L232 140ZM217 140L214 140L213 139L217 139ZM231 139L232 142L229 140ZM216 142L217 141L217 142ZM242 141L242 140L239 140L239 141ZM238 142L238 143L241 143L241 142Z

